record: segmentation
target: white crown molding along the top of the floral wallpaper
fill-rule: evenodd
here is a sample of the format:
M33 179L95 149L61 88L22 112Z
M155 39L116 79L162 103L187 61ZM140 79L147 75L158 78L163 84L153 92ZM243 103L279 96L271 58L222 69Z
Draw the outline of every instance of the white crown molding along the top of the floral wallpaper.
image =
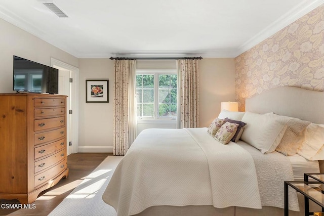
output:
M275 20L273 23L271 23L268 27L260 31L258 34L256 34L254 37L246 41L243 45L238 47L235 57L239 56L240 54L250 50L266 38L270 37L271 35L275 34L282 28L285 28L289 24L295 22L302 16L306 15L310 11L314 10L318 6L324 4L324 0L305 0L299 5L297 5L295 8L287 12L285 15L281 16L279 19Z

